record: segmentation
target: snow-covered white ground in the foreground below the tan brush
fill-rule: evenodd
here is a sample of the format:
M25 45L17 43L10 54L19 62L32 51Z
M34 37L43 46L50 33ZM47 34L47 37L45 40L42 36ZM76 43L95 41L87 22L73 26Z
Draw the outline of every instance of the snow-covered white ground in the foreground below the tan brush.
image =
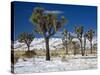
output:
M50 61L45 61L45 57L35 57L23 61L19 59L14 65L14 72L19 73L35 73L35 72L55 72L55 71L71 71L71 70L87 70L97 68L96 56L76 56L66 57L62 61L61 57L53 57Z

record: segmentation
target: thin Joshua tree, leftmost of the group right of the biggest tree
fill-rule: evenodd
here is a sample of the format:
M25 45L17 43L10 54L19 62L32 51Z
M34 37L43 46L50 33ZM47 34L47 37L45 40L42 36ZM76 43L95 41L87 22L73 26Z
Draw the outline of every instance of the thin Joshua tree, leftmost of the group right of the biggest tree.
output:
M62 35L63 35L62 42L65 47L66 54L68 54L68 31L64 29Z

